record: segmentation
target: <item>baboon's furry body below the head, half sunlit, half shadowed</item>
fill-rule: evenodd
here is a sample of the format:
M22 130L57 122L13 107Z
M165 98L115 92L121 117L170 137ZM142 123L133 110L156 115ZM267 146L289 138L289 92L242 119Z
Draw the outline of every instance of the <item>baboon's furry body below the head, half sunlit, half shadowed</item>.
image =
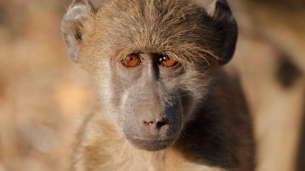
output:
M213 85L215 91L208 93L201 109L204 115L190 122L173 147L162 151L133 148L107 112L97 109L77 135L70 170L254 170L252 122L238 80L227 78Z

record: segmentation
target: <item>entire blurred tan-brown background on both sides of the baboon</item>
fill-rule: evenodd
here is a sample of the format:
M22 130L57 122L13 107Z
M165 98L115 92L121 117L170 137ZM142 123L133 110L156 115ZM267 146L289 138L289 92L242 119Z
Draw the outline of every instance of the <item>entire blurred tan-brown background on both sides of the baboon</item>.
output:
M0 0L0 171L64 170L95 98L61 36L71 1ZM305 171L305 1L228 2L239 40L226 67L253 115L257 171Z

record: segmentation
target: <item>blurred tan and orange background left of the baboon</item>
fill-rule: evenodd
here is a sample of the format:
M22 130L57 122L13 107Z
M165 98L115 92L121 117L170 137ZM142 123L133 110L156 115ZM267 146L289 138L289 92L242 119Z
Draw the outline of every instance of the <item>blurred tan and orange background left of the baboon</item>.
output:
M58 0L0 1L0 170L61 170L93 98L71 62Z

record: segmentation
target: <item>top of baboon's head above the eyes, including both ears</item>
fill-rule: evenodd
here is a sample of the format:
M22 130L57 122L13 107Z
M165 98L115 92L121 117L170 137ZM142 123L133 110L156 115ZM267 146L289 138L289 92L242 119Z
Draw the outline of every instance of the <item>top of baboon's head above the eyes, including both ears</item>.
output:
M92 46L97 47L94 56L112 61L132 53L156 53L182 65L224 64L235 51L237 24L225 0L216 0L207 10L187 0L103 2L95 2L97 9L88 0L74 0L64 17L63 36L74 61ZM82 42L84 34L90 43Z

